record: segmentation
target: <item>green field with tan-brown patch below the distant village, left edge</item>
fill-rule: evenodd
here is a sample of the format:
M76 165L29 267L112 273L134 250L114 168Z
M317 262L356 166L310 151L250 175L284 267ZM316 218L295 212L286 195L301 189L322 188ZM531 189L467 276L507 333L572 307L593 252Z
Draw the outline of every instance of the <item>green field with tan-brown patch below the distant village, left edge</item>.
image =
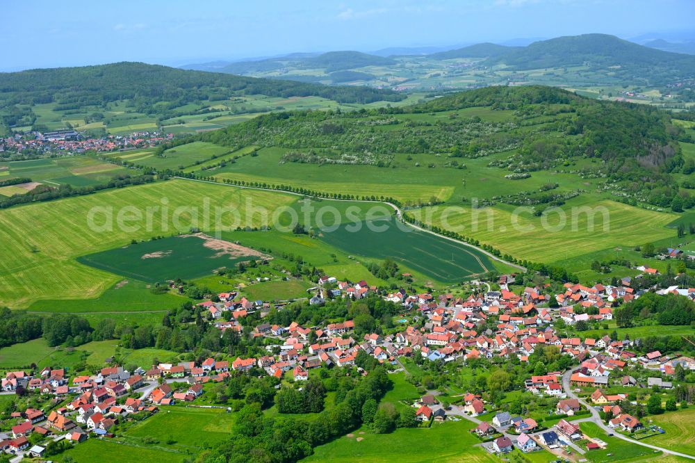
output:
M49 186L90 186L106 183L118 175L133 175L131 170L90 156L0 162L0 168L2 167L8 168L7 178L28 177Z

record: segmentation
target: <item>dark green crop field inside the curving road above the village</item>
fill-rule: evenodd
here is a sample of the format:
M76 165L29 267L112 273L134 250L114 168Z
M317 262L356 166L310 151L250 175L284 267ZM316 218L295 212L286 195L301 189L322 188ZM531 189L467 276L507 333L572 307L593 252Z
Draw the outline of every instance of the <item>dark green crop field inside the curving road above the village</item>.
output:
M400 227L392 218L358 223L358 231L351 231L355 224L341 225L333 232L322 233L321 239L351 254L390 257L440 282L457 282L494 268L486 255L472 247Z

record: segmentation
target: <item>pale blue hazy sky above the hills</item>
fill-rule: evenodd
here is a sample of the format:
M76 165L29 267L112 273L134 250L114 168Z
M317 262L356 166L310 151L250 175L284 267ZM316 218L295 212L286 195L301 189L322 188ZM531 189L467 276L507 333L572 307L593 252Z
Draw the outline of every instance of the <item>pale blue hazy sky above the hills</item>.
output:
M694 31L694 0L1 0L0 70ZM693 34L695 35L695 33Z

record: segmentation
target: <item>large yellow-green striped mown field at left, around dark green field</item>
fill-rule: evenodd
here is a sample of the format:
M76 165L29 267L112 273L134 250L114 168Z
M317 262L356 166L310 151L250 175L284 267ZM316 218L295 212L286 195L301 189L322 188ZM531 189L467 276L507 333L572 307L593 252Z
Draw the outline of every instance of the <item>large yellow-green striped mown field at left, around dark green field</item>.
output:
M247 200L254 207L273 211L296 199L279 193L171 180L5 209L0 211L0 304L22 308L42 299L97 298L123 278L84 266L76 261L77 257L123 246L131 239L199 227L202 218L196 221L191 211L202 210L204 198L210 200L212 210L218 205L230 206L251 225L257 225L260 218L257 214L247 216ZM146 220L140 221L140 225L128 222L128 227L117 226L115 215L125 206L130 211L135 208L144 217L147 207L163 204L167 204L168 210L153 211L149 227ZM179 207L188 209L175 213ZM95 227L88 223L90 211ZM61 220L47 222L47 216ZM113 227L108 225L110 218ZM227 226L238 223L226 214L220 222ZM214 223L212 220L211 225Z

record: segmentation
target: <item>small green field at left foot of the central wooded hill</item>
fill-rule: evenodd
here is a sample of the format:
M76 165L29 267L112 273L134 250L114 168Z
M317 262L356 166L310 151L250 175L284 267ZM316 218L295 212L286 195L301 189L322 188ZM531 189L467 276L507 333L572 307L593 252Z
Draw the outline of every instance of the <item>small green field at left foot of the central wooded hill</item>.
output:
M157 170L185 168L195 163L202 163L213 156L220 156L229 149L213 143L194 142L167 149L163 156L155 156L154 149L143 149L135 152L124 152L115 157L136 165L155 168Z

